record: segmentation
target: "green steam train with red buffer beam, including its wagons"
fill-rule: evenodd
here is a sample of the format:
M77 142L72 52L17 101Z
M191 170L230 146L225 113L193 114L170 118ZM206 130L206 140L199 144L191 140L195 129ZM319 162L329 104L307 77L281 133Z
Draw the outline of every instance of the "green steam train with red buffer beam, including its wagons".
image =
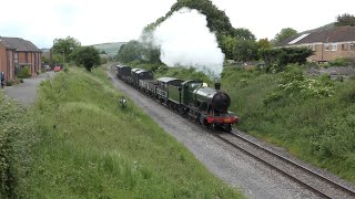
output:
M195 80L182 81L173 77L154 80L151 71L116 65L116 76L136 90L159 100L181 115L189 115L196 123L212 128L232 129L232 124L240 118L229 111L230 96L221 91Z

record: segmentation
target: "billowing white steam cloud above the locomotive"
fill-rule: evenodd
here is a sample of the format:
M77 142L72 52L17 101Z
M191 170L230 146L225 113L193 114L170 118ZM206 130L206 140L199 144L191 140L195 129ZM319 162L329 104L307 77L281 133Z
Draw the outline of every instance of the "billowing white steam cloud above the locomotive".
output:
M220 77L224 54L207 28L206 17L197 10L180 9L156 28L153 36L168 66L193 66Z

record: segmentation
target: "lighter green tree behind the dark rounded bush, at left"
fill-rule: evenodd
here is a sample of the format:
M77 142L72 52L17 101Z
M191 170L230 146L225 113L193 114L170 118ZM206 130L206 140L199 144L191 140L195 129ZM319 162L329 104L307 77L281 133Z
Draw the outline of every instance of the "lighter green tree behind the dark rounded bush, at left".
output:
M68 55L79 46L81 46L81 43L77 39L67 36L65 39L54 39L52 50L53 53L63 54L65 57L69 57Z

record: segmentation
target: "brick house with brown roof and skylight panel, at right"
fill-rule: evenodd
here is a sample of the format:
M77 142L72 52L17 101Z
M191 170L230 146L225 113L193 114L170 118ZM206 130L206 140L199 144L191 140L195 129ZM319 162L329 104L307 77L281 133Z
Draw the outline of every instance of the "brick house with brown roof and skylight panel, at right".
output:
M291 36L281 46L306 46L314 51L308 61L327 62L348 57L355 60L355 27L338 27Z

